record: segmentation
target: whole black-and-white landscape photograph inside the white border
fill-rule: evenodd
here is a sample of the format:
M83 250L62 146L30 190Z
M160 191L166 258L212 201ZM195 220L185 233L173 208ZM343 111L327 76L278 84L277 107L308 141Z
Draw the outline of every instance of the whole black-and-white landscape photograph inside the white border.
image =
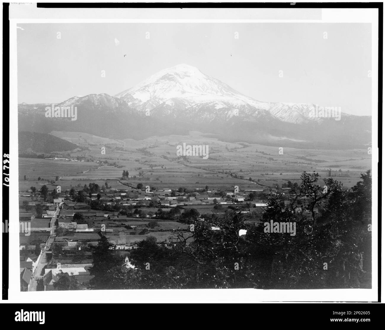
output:
M371 31L18 24L20 289L371 288Z

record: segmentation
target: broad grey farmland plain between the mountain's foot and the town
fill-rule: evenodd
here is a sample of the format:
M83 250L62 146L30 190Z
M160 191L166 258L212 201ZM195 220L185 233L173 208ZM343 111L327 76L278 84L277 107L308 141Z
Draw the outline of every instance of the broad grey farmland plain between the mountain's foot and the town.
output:
M80 135L81 136L80 136ZM74 132L55 132L56 136L79 142L83 147L80 152L71 153L71 157L83 156L92 160L106 162L63 162L37 158L20 158L20 189L31 185L41 185L37 177L55 180L62 189L83 187L95 182L104 185L107 181L112 188L126 188L119 180L123 170L129 171L129 179L123 183L134 186L142 183L157 189L204 188L233 190L238 185L240 190L263 189L282 185L289 180L299 182L303 171L318 172L321 179L326 178L328 169L332 177L341 181L345 187L352 187L360 180L360 173L371 168L371 155L365 149L354 150L304 150L250 144L246 142L228 143L216 138L206 137L199 132L188 136L170 135L152 137L135 141L111 140ZM72 139L72 140L71 140ZM76 143L76 142L75 142ZM98 143L100 143L98 145ZM209 157L178 157L176 146L208 145ZM105 155L101 148L105 147ZM112 165L113 166L110 166ZM30 180L23 181L23 175ZM250 182L252 178L256 182Z

